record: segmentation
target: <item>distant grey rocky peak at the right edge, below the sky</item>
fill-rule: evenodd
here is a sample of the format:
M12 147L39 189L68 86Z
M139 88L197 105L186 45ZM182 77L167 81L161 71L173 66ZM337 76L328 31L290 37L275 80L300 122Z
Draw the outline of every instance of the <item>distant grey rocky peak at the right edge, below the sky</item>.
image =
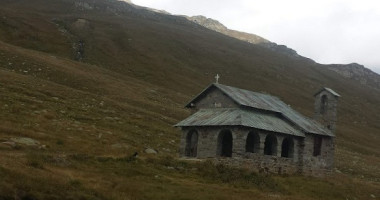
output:
M380 89L380 75L357 63L347 65L333 64L327 68L345 78L353 79L362 85Z

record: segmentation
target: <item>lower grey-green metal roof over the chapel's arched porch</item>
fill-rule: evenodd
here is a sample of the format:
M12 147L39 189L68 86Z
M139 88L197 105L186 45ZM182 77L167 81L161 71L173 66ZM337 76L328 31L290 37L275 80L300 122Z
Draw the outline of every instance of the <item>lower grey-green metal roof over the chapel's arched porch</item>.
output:
M297 130L274 113L260 113L240 108L200 109L175 126L245 126L305 137L302 131Z

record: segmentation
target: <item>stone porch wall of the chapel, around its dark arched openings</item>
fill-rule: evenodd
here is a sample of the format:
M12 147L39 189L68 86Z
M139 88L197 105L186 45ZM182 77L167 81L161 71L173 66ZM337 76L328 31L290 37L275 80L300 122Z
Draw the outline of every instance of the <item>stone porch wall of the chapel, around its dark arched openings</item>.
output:
M198 127L183 128L181 137L180 156L185 155L186 136L189 132L196 130L198 137L198 153L197 157L201 159L216 158L215 162L234 166L248 168L254 171L286 173L301 173L303 156L303 138L294 137L285 134L272 133L262 130L255 130L243 127ZM229 130L232 133L233 146L232 157L224 158L217 155L218 136L223 130ZM246 139L248 134L256 133L260 137L258 142L258 152L246 152ZM274 155L264 155L265 138L268 135L274 135L277 139L276 153ZM281 157L281 146L285 138L289 138L294 143L294 152L291 158Z

